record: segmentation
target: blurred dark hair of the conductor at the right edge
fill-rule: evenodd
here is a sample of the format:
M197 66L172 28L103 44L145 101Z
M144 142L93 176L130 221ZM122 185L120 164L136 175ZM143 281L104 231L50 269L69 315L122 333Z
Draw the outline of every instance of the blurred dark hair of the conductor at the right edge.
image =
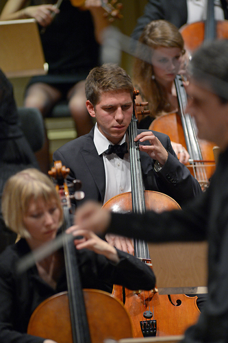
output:
M204 43L192 56L190 73L222 102L228 102L228 40Z

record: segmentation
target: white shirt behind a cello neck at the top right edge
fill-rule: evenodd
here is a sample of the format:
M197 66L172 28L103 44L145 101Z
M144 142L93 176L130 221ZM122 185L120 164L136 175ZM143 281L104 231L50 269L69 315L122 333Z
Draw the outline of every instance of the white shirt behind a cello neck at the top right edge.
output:
M187 5L188 24L204 21L207 18L207 0L187 0ZM220 0L214 0L214 18L216 20L224 20L224 12Z

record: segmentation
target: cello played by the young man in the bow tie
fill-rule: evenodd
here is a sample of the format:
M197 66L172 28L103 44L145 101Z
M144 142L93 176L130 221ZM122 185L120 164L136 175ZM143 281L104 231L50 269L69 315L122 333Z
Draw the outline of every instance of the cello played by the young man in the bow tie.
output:
M134 90L134 97L138 93ZM133 210L136 213L144 213L146 209L157 212L180 209L179 204L169 196L157 191L144 191L138 142L134 141L137 136L136 106L139 105L145 106L145 103L134 104L129 124L131 192L119 194L108 200L103 206L114 212ZM147 242L135 239L134 254L151 266ZM159 295L157 289L132 292L116 285L113 294L123 301L131 316L134 323L134 338L182 335L199 316L196 296L192 298L184 294Z

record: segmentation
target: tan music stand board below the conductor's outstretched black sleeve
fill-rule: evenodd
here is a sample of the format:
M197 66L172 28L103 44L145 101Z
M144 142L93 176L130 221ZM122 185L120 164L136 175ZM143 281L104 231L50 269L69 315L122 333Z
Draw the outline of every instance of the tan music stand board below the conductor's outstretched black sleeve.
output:
M207 243L149 244L160 294L207 293Z

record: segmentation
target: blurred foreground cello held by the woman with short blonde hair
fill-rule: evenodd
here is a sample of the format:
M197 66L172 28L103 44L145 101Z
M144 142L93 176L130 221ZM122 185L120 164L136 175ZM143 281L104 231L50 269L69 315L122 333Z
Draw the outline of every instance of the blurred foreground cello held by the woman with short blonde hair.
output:
M131 338L131 320L121 302L107 292L81 288L77 250L73 239L69 241L64 235L71 226L71 202L64 181L69 171L60 161L49 171L58 181L56 188L64 209L62 237L68 292L42 302L31 315L27 333L58 343L100 343L107 338Z

